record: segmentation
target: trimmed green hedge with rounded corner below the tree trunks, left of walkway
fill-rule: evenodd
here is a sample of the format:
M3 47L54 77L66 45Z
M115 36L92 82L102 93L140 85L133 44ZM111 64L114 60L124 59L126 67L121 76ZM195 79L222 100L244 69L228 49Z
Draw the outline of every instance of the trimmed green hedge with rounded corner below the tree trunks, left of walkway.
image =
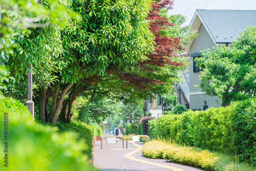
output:
M87 123L72 120L70 123L56 123L59 127L59 132L75 132L78 133L76 138L77 142L82 142L84 146L83 154L87 155L89 158L93 156L93 129L92 126Z

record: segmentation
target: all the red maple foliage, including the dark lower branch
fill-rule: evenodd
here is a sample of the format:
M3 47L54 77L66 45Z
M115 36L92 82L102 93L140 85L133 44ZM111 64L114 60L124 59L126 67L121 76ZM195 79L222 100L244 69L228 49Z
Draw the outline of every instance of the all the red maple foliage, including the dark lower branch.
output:
M169 38L163 33L161 30L168 29L168 26L173 26L174 23L170 23L169 19L160 15L160 10L165 9L173 9L173 0L163 0L163 1L155 1L152 3L152 9L148 14L147 18L150 21L150 31L153 32L155 36L155 51L146 55L147 60L144 60L138 63L137 67L144 70L153 70L150 66L158 66L165 67L166 65L170 66L182 66L183 63L174 62L172 60L173 57L176 57L177 51L183 51L181 45L181 38L174 37ZM148 66L150 65L150 66ZM126 80L129 83L125 83L124 85L134 84L138 89L144 90L149 89L145 84L159 84L163 83L160 80L150 79L138 76L132 73L119 73L118 77L121 80Z

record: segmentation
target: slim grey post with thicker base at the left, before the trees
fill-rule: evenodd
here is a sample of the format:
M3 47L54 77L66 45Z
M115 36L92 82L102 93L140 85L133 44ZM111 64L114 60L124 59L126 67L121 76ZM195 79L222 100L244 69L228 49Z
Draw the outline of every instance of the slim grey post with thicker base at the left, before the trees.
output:
M26 102L26 106L28 106L28 109L32 115L32 119L34 119L35 115L35 104L32 100L32 65L29 66L29 72L28 72L28 101Z

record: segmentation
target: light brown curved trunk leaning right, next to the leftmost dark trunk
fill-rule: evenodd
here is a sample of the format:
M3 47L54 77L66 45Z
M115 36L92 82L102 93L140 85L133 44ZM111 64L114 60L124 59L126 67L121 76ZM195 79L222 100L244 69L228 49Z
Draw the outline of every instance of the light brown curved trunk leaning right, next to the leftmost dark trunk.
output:
M52 116L50 116L50 122L55 125L56 124L56 121L57 121L57 118L58 118L58 115L59 115L59 112L60 110L62 109L62 102L67 94L67 92L69 91L69 89L73 86L74 83L69 83L67 87L65 87L61 93L60 93L60 97L56 103L56 108L55 108L55 111L54 113L52 114ZM51 109L52 110L52 109Z

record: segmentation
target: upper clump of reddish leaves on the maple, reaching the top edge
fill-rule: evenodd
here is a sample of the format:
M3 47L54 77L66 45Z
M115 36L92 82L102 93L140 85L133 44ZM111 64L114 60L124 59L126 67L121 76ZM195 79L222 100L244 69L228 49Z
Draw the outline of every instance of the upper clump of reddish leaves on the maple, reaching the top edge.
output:
M161 8L172 9L172 0L163 0L161 2L153 2L152 10L148 14L147 19L150 22L150 31L155 35L155 52L147 55L148 60L142 62L142 64L149 64L153 66L164 67L166 65L181 66L182 63L173 62L171 59L175 56L176 51L182 51L182 45L180 43L180 37L169 38L160 31L166 29L167 26L173 26L168 18L159 15Z

